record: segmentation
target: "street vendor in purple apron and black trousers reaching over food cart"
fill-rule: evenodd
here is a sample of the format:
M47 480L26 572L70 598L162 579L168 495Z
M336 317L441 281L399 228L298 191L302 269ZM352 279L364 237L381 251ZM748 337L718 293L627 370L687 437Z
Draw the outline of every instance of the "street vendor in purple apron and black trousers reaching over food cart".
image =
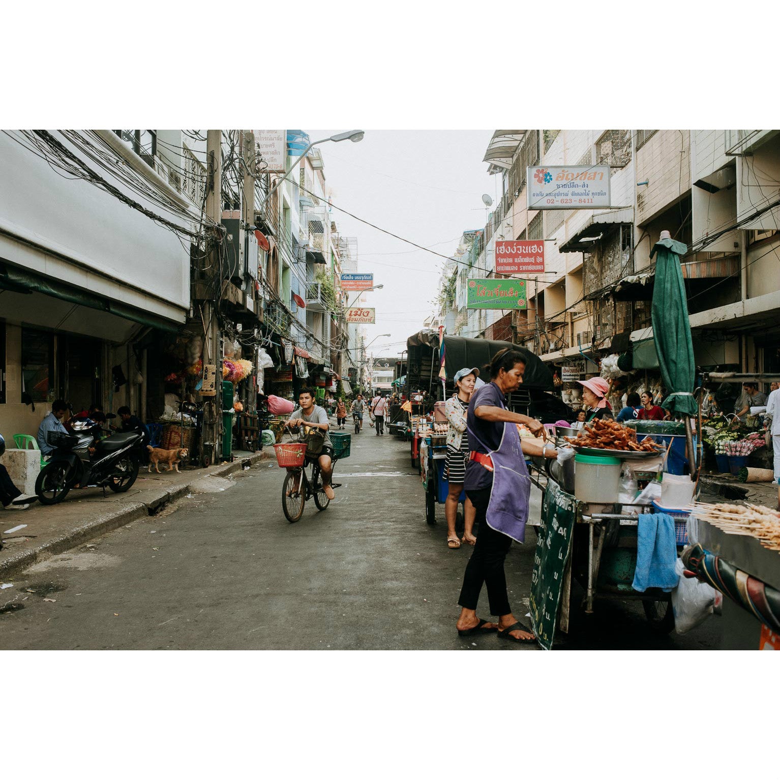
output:
M521 443L517 423L526 424L534 434L540 434L544 427L538 420L506 408L505 395L523 382L523 354L503 349L489 368L491 381L473 393L466 414L471 454L465 488L477 509L480 533L463 575L456 627L460 636L498 630L503 639L533 642L534 633L512 615L509 607L504 559L512 539L522 542L525 538L530 478L523 452L548 458L558 453L549 444L540 447L536 442ZM491 615L498 615L498 623L477 617L483 583L488 589Z

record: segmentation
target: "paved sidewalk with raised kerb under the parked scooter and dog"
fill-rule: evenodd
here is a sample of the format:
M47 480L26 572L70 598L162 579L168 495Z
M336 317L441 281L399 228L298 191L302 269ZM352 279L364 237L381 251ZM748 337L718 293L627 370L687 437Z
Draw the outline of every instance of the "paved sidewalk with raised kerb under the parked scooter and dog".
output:
M142 466L129 491L116 494L107 490L105 498L100 488L86 488L71 491L65 501L54 506L34 502L30 509L22 511L0 509L0 538L4 544L0 550L0 581L135 519L155 515L188 493L218 490L214 477L229 477L245 466L257 466L274 458L271 447L261 452L237 450L233 454L232 463L181 473L158 474L154 469L147 473L146 466Z

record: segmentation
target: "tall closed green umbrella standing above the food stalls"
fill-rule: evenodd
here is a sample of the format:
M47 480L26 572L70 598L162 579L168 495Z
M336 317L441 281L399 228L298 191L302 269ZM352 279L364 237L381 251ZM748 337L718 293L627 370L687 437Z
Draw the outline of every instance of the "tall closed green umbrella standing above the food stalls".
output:
M653 337L661 377L669 392L661 406L672 414L695 417L698 412L693 398L696 363L693 362L688 302L680 268L680 256L687 251L684 243L675 241L668 230L664 230L651 252L651 257L658 254L653 288Z

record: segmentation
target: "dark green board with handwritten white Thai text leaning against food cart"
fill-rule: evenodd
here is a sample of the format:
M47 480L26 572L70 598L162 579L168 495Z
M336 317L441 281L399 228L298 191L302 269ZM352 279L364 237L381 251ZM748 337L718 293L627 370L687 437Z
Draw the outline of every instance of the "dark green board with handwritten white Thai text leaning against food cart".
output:
M534 633L545 650L551 650L555 639L578 503L573 495L548 480L541 505L541 525L537 528L530 597Z

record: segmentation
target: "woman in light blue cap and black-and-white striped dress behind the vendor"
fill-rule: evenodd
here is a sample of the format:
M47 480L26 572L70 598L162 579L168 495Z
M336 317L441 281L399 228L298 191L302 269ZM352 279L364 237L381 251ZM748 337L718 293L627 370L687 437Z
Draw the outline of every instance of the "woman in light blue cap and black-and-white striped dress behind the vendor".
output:
M466 479L466 463L469 459L469 438L466 436L466 412L469 410L469 401L474 392L474 383L480 375L478 368L462 368L455 374L455 386L458 388L456 395L447 399L444 413L449 422L447 432L447 463L444 470L444 478L449 481L449 493L444 505L444 513L447 518L447 546L451 550L460 547L458 534L455 530L455 520L458 515L458 502L463 492L463 480ZM474 527L474 515L476 510L470 498L466 498L463 505L463 543L474 544L477 541L472 533Z

